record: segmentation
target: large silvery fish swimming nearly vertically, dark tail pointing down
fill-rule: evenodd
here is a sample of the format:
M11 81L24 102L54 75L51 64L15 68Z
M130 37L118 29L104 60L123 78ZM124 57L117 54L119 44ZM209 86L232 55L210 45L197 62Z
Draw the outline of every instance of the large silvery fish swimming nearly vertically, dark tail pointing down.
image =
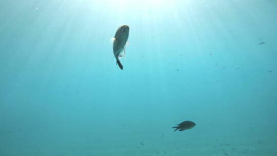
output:
M123 70L123 65L121 64L119 59L125 56L129 30L130 28L128 25L122 25L115 32L114 38L112 38L113 54L116 59L116 65L118 65L121 70Z

